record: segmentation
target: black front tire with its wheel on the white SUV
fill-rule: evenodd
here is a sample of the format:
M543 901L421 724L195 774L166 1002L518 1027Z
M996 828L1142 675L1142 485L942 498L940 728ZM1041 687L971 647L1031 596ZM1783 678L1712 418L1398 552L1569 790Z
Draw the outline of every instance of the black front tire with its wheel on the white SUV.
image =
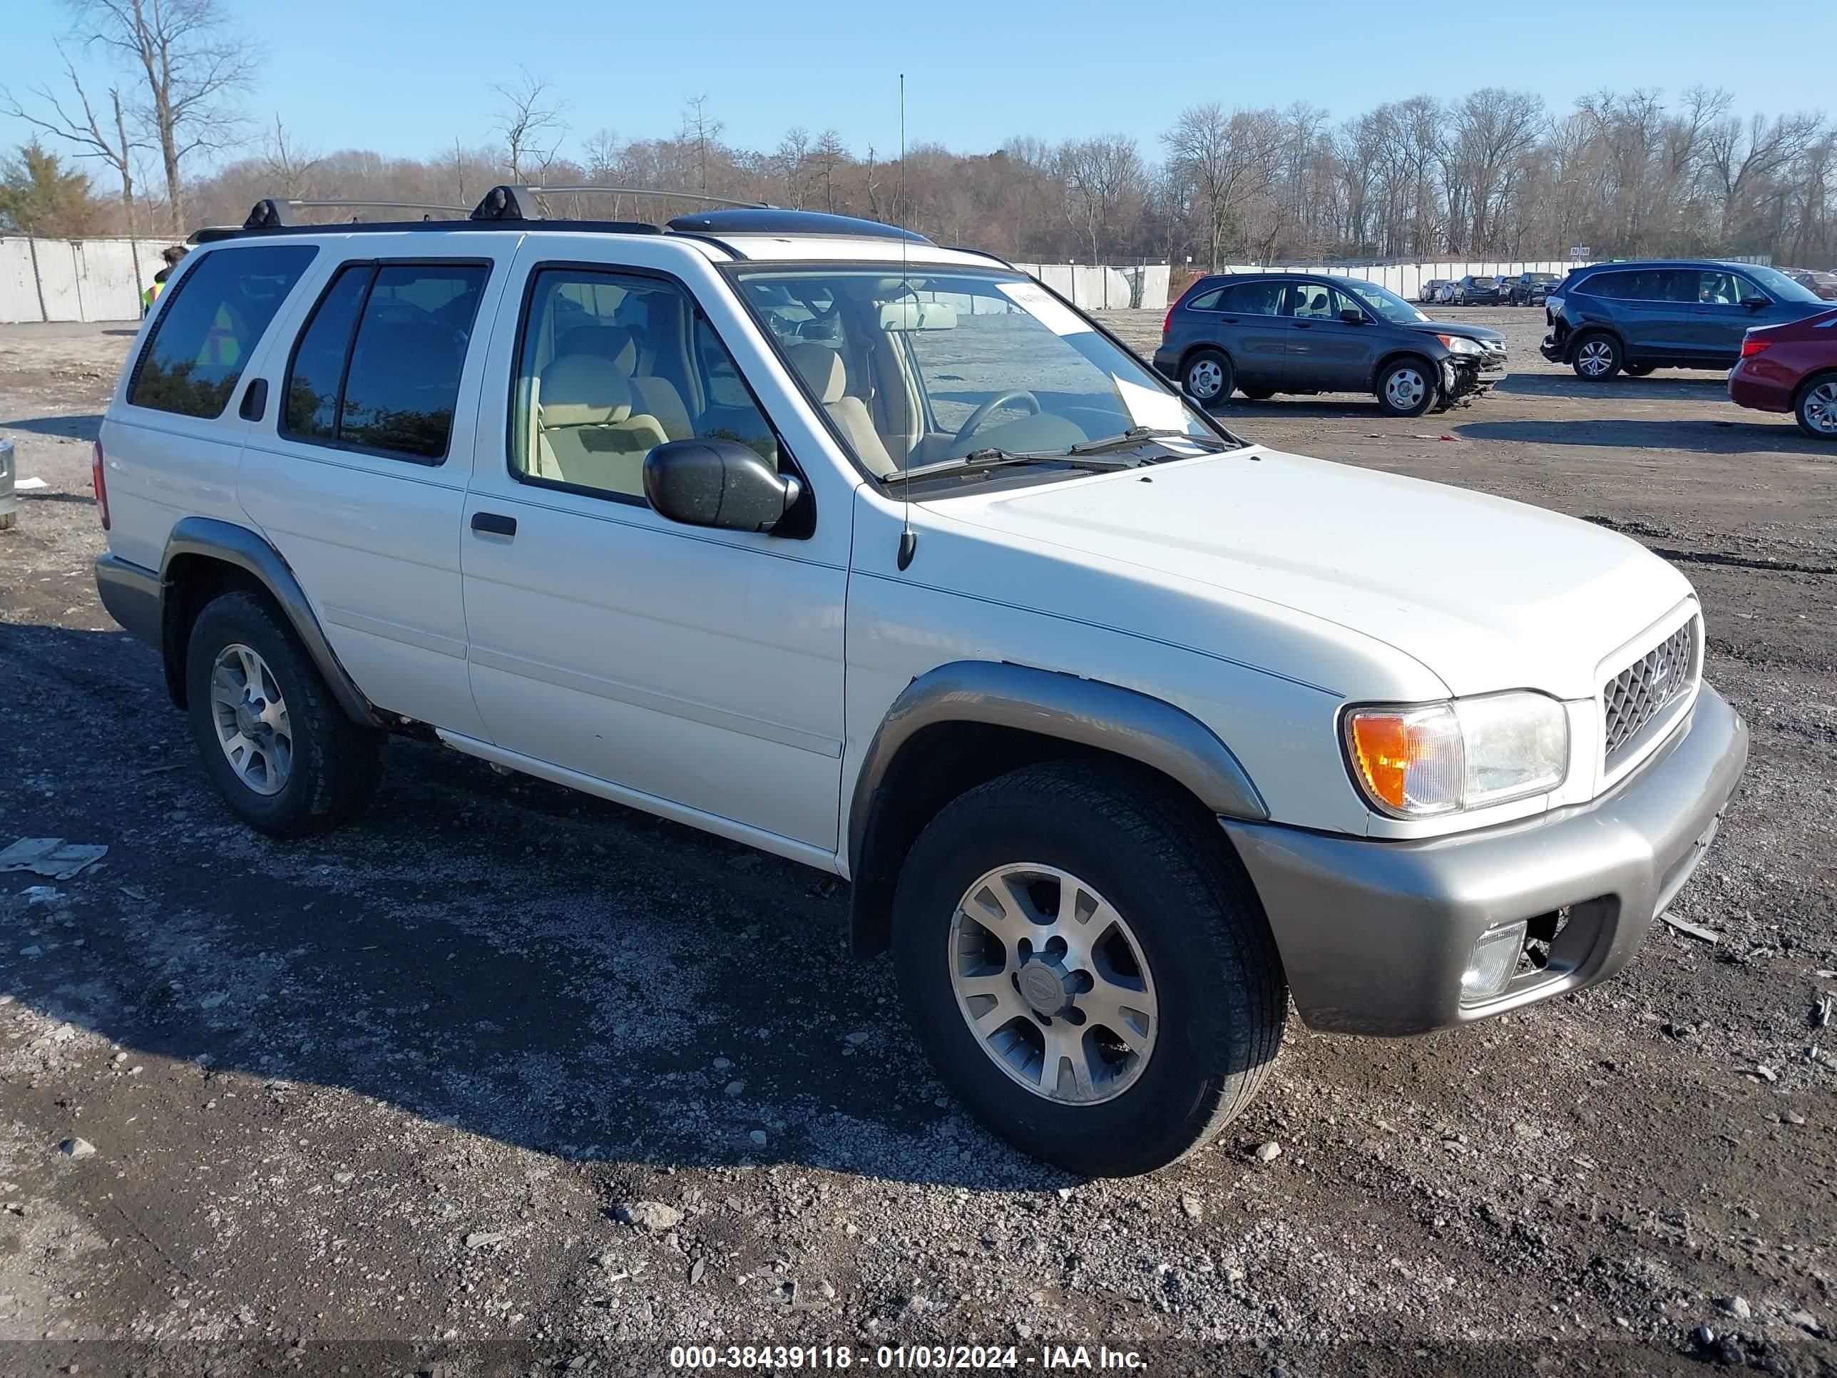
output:
M1262 906L1229 845L1207 827L1211 819L1181 805L1154 781L1100 766L1025 766L946 805L900 871L893 957L918 1042L992 1134L1069 1172L1152 1172L1211 1141L1249 1104L1282 1042L1288 988ZM1058 948L1069 972L1054 974L1038 959L1054 954L1051 937L1034 959L1023 959L1018 941L1001 943L972 919L974 897L1007 886L1010 876L990 880L1005 869L1042 876L1038 889L1003 889L1010 898L1029 897L1034 913L1056 913L1058 900L1075 893L1100 897L1115 921L1106 928L1110 943L1093 941L1091 954ZM986 904L981 911L997 913ZM1104 913L1097 908L1088 922ZM1016 926L1038 932L1025 919ZM1119 952L1139 957L1135 976ZM963 976L966 965L977 970ZM1091 988L1071 994L1065 1011L1042 1016L1038 988L1031 1000L1021 994L1021 977L1042 970L1053 998L1082 981ZM1146 1053L1124 1051L1111 1025L1076 1003L1108 992L1106 1003L1130 1009L1108 977L1099 988L1099 970L1122 972L1119 979L1146 988L1152 1016L1133 1029ZM959 996L959 979L1001 994ZM972 1029L968 1009L985 1000L985 1018L1001 1020L994 1036L1012 1040L1010 1060L997 1060L994 1042ZM1040 1090L1049 1036L1078 1049L1089 1086L1067 1056L1054 1058L1053 1091ZM1029 1056L1031 1073L1010 1069ZM1029 1075L1032 1088L1021 1080Z

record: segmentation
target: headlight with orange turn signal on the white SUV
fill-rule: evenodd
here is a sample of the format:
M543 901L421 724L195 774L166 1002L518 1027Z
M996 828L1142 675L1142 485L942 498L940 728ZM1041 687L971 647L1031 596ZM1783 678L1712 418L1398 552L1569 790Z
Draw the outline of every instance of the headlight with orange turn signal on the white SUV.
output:
M1514 691L1345 715L1352 783L1392 818L1429 818L1545 794L1569 774L1569 715Z

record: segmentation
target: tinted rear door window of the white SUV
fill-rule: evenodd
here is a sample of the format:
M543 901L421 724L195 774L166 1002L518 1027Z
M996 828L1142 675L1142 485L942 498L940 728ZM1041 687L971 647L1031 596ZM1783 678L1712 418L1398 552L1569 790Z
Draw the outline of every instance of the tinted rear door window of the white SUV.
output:
M439 463L490 268L353 263L312 309L287 371L285 434Z

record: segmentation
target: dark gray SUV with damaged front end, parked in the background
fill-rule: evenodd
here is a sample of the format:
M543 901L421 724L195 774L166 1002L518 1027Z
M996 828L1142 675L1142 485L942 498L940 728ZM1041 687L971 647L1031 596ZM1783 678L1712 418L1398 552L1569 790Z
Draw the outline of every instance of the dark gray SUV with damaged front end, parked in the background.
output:
M1431 320L1358 277L1214 274L1168 309L1154 366L1207 406L1233 390L1251 401L1369 391L1414 417L1503 378L1505 336Z

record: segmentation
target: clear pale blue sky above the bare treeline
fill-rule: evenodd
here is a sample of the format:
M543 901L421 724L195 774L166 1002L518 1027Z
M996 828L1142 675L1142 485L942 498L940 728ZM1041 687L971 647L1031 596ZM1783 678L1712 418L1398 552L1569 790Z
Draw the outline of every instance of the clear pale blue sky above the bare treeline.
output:
M266 46L250 114L279 110L301 141L424 156L492 140L490 86L522 61L568 101L569 143L597 129L671 134L689 96L707 94L724 138L772 147L790 125L834 127L856 152L898 147L896 77L907 77L907 138L986 151L1012 134L1047 140L1121 130L1143 151L1181 107L1290 105L1334 119L1416 94L1497 85L1554 108L1609 86L1723 86L1743 112L1837 112L1828 57L1831 0L1775 0L1764 24L1727 4L1492 4L1205 7L1056 4L909 6L608 4L606 0L224 0ZM9 0L0 83L26 97L61 85L59 0ZM281 17L287 17L281 22ZM1170 17L1196 17L1185 22ZM1795 37L1797 35L1797 37ZM1804 40L1804 42L1800 42ZM79 66L99 75L97 55ZM1797 57L1804 53L1806 57ZM0 118L0 149L29 130Z

